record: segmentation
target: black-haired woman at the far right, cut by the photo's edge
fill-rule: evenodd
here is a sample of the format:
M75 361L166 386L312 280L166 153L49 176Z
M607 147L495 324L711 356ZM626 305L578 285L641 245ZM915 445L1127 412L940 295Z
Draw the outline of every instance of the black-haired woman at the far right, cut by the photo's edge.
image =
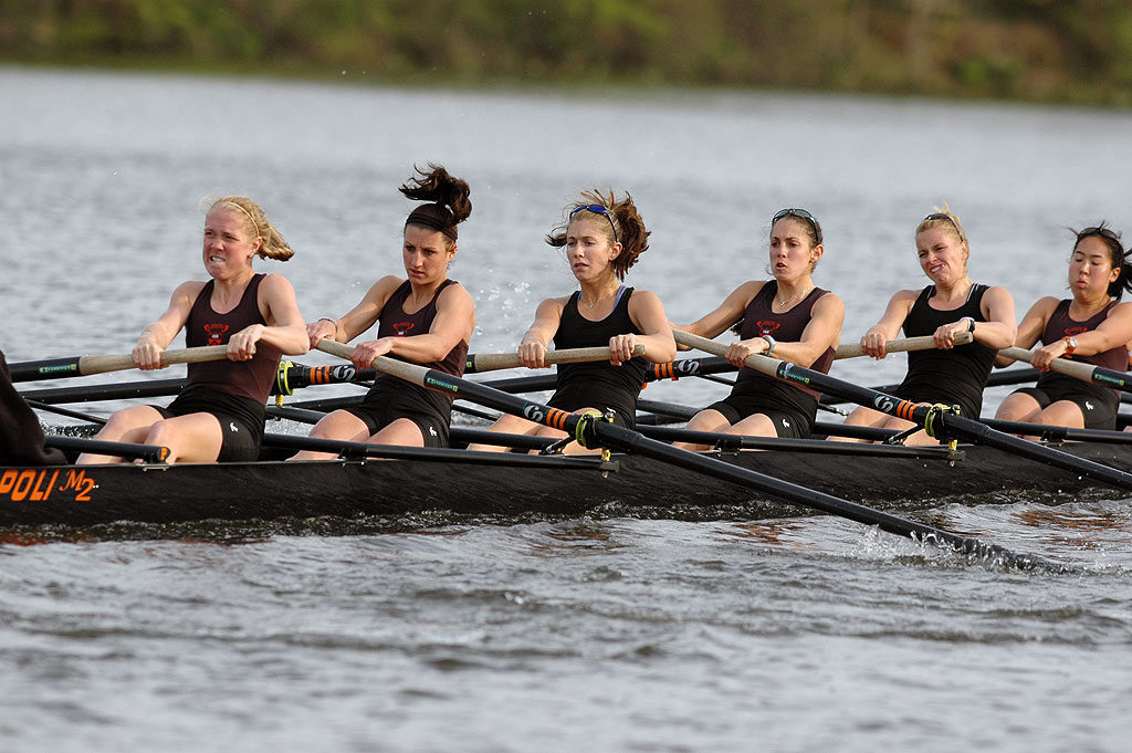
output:
M1053 426L1115 429L1120 395L1115 390L1049 370L1055 358L1101 366L1115 371L1127 367L1132 340L1132 303L1118 302L1132 291L1132 265L1120 233L1106 223L1074 233L1069 262L1072 298L1043 298L1018 327L1018 346L1031 348L1032 366L1045 371L1034 387L1011 393L995 418ZM998 366L1012 363L1000 358Z

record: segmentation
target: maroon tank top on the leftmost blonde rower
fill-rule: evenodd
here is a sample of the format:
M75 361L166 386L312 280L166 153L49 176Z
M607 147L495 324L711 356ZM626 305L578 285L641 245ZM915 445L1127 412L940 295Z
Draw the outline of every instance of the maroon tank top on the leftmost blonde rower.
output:
M185 344L189 348L201 345L224 345L237 332L252 324L266 325L259 313L259 283L264 275L257 274L243 290L243 296L234 309L217 314L212 307L213 280L205 283L192 302L189 319L185 323ZM259 341L256 354L250 361L207 361L189 363L189 380L186 386L196 385L239 395L263 403L271 394L272 383L278 371L280 351L274 345Z

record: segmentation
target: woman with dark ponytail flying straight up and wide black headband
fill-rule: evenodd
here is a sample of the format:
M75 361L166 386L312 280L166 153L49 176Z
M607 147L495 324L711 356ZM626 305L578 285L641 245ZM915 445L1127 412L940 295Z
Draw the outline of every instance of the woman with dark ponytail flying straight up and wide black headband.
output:
M439 165L417 170L400 190L420 204L409 213L402 234L405 277L381 277L341 319L307 327L311 346L323 337L350 342L378 323L377 339L358 343L351 360L369 368L377 356L428 366L461 376L468 342L475 328L471 294L448 277L456 256L456 225L472 213L468 183ZM323 418L310 436L409 447L445 447L452 397L378 374L362 403ZM303 451L291 460L329 460L333 453Z

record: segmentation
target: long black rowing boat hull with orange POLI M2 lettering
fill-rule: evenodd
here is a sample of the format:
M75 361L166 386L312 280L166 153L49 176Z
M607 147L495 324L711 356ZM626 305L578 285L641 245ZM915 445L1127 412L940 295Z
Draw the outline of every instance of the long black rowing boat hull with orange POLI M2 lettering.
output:
M455 440L475 430L454 427ZM305 437L268 435L277 456ZM996 493L1077 494L1087 479L998 450L847 446L780 440L775 452L724 451L721 460L840 497L901 510ZM340 443L336 461L0 468L0 529L177 523L316 516L401 515L426 511L580 515L717 514L771 517L797 508L749 489L640 455L600 457L378 448ZM290 448L289 448L290 447ZM1091 442L1061 447L1132 470L1132 446ZM1064 498L1060 499L1064 502ZM734 508L741 505L743 508ZM728 510L732 508L729 513Z

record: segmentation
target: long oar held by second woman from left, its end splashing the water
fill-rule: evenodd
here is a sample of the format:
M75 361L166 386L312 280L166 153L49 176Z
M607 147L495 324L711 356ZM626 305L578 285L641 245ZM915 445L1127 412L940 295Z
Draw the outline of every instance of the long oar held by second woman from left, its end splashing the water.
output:
M349 358L353 348L343 343L323 340L317 348L324 352ZM636 431L619 427L593 414L575 414L541 403L531 402L488 387L475 382L461 379L436 369L429 369L415 363L408 363L379 356L372 366L422 387L447 393L454 397L470 400L488 408L495 408L537 423L561 429L573 436L580 444L588 447L609 447L620 452L637 453L692 471L732 481L740 486L755 489L780 499L820 510L832 515L876 525L882 530L899 536L907 536L917 541L940 541L959 553L974 555L984 561L1002 562L1018 567L1046 567L1064 570L1063 566L1049 563L1032 555L1021 555L994 544L987 544L975 538L959 536L942 529L925 525L914 521L891 515L872 507L858 505L848 499L841 499L822 491L790 484L781 479L749 471L738 465L731 465L721 460L694 452L679 450L671 445L649 439Z

